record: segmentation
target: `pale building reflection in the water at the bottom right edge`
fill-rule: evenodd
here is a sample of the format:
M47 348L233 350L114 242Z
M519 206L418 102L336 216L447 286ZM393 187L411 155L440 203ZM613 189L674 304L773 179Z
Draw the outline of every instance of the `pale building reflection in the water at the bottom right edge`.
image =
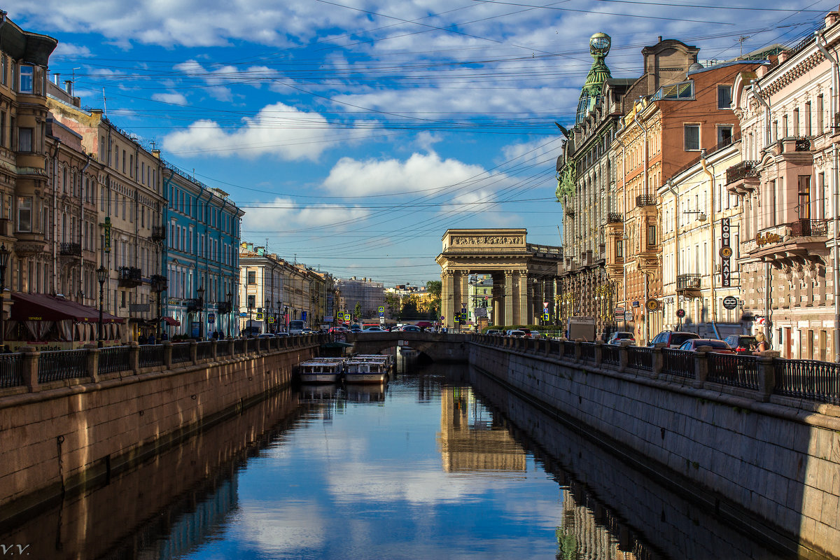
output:
M586 497L582 491L575 493L572 489L561 488L563 497L563 525L557 528L557 557L563 560L641 560L649 557L643 554L639 557L633 552L632 541L626 531L619 526L621 541L616 539L610 525L615 521L609 512L601 506L593 511L585 505ZM577 496L575 496L577 494ZM622 538L623 537L623 538Z

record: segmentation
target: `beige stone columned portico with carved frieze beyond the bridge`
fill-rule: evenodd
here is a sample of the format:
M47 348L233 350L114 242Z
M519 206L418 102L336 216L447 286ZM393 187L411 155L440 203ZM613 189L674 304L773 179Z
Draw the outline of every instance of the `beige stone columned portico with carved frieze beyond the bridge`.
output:
M543 285L554 291L563 249L528 243L527 233L525 228L449 229L444 233L444 250L437 262L445 327L454 327L454 316L462 304L470 306L468 282L475 274L489 274L493 280L495 326L538 322L542 307L537 310L535 294L544 293Z

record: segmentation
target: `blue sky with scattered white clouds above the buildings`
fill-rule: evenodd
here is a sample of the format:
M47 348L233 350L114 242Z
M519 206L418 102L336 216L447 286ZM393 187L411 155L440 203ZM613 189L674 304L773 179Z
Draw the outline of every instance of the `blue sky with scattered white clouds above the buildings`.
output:
M822 27L836 2L14 0L59 39L84 107L228 191L243 240L334 275L439 280L447 228L560 244L557 121L612 36L614 77L658 36L727 60ZM741 39L741 40L739 40ZM193 171L194 170L194 171Z

